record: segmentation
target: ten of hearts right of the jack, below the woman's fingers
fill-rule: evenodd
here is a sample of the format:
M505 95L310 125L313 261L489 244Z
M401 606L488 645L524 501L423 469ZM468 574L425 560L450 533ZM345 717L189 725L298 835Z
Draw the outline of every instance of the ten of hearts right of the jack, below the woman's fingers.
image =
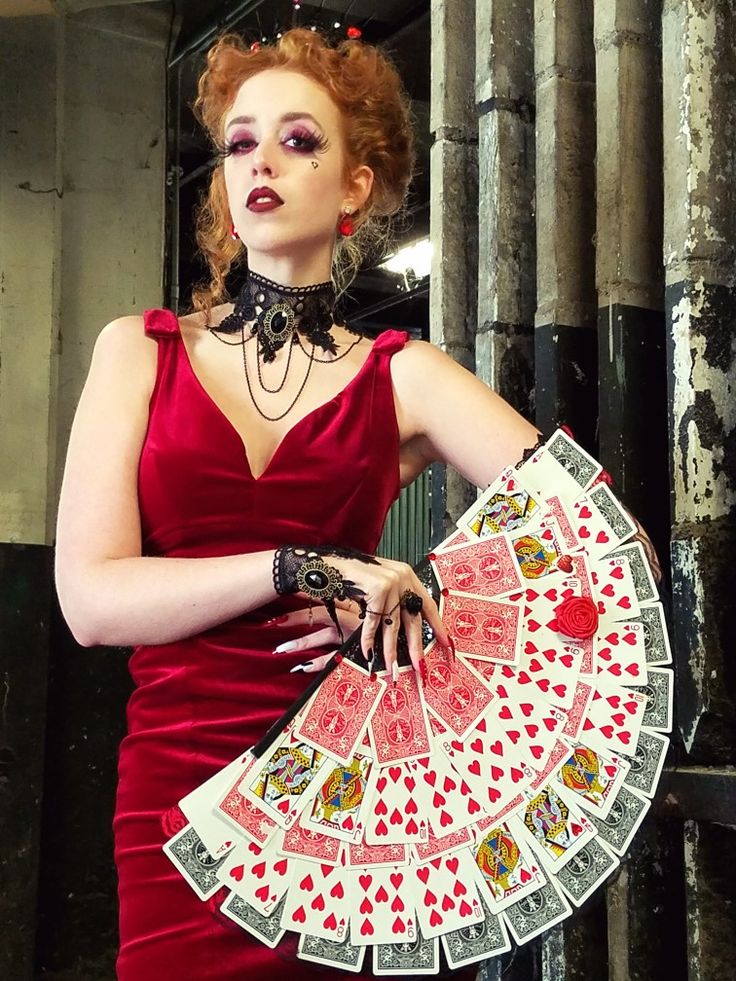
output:
M366 844L400 845L427 840L429 829L421 813L417 779L412 763L396 763L380 771L366 814Z

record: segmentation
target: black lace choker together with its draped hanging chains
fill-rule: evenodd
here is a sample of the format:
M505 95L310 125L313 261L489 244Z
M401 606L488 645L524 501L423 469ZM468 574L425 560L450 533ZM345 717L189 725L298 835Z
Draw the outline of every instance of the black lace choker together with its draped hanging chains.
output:
M248 278L235 299L233 312L224 317L216 327L208 328L213 337L222 344L242 347L243 372L248 394L262 418L269 422L283 419L294 408L306 388L314 362L325 364L339 361L361 341L363 335L360 331L348 324L340 324L345 330L355 334L356 339L345 351L338 354L339 345L331 333L335 300L335 287L329 281L314 286L280 286L273 280L266 279L265 276L249 271ZM237 333L240 333L240 338L236 341L220 337L220 334ZM253 391L246 357L246 344L253 338L256 339L258 384L261 391L268 395L275 395L284 388L289 376L291 354L297 345L307 357L307 370L299 390L287 408L275 416L263 411ZM309 345L308 348L305 347L305 341ZM285 345L288 345L288 351L283 377L275 388L270 388L263 378L263 364L275 361L276 354ZM315 355L317 348L321 348L325 354L330 354L332 357L317 357Z

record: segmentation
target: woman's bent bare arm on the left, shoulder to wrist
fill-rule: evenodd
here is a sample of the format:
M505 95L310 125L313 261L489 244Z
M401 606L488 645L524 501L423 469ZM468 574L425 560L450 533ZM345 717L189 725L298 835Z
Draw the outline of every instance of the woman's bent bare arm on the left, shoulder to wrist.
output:
M141 317L101 332L69 441L59 504L56 581L76 639L163 644L275 598L273 552L223 558L141 556L138 461L157 342Z

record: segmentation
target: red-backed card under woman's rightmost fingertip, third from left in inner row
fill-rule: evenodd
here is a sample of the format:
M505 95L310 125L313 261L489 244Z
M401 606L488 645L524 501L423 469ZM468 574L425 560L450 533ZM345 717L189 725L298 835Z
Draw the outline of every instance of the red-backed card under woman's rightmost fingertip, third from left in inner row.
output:
M493 701L483 678L461 657L433 644L424 655L427 707L462 738Z

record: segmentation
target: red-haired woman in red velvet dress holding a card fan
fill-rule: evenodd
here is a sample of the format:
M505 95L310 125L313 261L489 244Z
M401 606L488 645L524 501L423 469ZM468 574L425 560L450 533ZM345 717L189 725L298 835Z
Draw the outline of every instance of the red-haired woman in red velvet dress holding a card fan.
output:
M304 30L257 51L225 37L196 109L221 154L200 214L211 282L179 320L147 311L100 334L59 513L75 637L135 647L114 821L123 981L285 976L293 948L268 950L199 903L161 850L161 816L303 691L304 651L337 638L332 601L344 629L363 615L366 656L382 631L389 668L401 623L420 668L407 594L450 643L412 570L370 558L386 512L434 460L486 486L538 438L429 344L397 331L371 344L334 323L336 245L344 261L410 177L407 103L382 55ZM246 252L243 291L219 302ZM327 607L299 589L304 544L341 583Z

